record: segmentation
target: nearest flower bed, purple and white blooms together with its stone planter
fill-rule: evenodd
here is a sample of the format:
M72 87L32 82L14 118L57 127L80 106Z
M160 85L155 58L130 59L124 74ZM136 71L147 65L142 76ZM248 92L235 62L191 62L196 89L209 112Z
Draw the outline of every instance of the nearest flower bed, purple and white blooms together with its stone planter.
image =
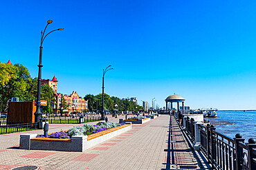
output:
M98 123L73 127L68 131L49 134L47 138L37 134L20 136L20 149L84 151L131 129L131 123Z

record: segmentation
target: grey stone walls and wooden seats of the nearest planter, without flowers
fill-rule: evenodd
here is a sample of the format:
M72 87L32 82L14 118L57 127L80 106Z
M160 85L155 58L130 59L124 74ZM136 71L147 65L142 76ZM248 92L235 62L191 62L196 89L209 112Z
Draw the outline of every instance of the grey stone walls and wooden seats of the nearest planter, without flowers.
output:
M89 136L72 136L69 139L35 138L37 134L23 134L19 139L19 149L48 150L48 151L85 151L114 136L129 131L131 123L113 127Z

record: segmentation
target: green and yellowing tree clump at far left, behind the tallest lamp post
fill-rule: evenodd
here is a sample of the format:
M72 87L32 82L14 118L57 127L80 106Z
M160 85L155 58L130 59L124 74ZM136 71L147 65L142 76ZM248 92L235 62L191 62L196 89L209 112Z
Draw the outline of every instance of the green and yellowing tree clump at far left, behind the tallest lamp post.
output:
M42 100L48 105L43 107L44 113L53 111L51 103L55 103L53 89L49 85L42 85ZM21 64L10 65L0 63L0 111L6 111L8 100L17 97L28 101L37 98L37 78L31 78L28 69Z

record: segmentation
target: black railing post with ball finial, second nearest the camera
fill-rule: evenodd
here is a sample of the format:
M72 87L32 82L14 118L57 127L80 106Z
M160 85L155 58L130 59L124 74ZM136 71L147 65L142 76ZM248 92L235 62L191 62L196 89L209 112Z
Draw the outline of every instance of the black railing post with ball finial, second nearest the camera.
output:
M242 157L243 157L243 148L239 147L239 142L244 143L244 139L242 138L241 134L236 134L235 138L235 169L240 170L242 164Z

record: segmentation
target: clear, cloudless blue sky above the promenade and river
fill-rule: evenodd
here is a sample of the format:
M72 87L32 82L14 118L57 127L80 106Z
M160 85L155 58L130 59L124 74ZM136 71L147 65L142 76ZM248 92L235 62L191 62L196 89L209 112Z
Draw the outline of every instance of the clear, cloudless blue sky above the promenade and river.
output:
M256 1L1 1L0 61L42 78L58 92L99 94L165 106L174 93L196 109L256 109Z

